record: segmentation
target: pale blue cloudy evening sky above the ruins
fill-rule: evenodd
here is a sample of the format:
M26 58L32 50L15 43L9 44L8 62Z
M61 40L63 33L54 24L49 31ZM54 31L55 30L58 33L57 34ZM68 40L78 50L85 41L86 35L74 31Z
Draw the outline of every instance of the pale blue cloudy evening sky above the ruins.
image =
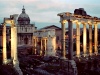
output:
M91 16L100 17L100 1L94 0L0 0L0 20L11 14L20 14L24 5L31 22L59 23L58 13L74 12L76 8L84 8ZM41 22L41 23L40 23Z

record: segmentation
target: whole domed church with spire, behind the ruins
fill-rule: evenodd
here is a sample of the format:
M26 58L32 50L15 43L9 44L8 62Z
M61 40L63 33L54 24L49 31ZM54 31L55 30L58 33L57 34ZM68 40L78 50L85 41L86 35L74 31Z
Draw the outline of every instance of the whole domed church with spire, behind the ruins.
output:
M23 6L22 13L18 16L17 20L17 36L18 36L18 46L32 45L33 32L36 29L35 24L30 24L30 18L25 12Z

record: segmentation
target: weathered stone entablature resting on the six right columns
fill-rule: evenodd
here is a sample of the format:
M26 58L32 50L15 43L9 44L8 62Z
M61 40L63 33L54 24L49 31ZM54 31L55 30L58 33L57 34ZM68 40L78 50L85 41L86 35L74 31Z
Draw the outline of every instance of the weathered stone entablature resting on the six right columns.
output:
M76 15L74 13L70 12L63 12L59 13L58 16L61 16L60 21L67 21L71 20L73 22L82 22L82 23L100 23L100 18L98 17L92 17L90 15L82 16L82 15Z

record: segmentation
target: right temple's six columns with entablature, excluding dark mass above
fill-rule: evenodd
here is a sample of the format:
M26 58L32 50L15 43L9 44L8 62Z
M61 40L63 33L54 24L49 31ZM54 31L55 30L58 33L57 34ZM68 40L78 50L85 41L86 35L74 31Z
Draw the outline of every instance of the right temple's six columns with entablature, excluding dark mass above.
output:
M60 22L62 26L62 50L63 58L66 57L65 50L65 23L68 22L68 35L69 35L69 49L68 55L69 59L73 59L73 23L76 24L76 56L92 56L93 54L98 55L98 23L100 19L95 17L87 16L84 18L80 15L74 15L71 13L60 13ZM83 24L83 54L81 55L80 51L80 24ZM89 25L89 50L87 50L87 28L86 25ZM94 25L94 53L92 46L92 26ZM89 51L89 52L88 52Z

